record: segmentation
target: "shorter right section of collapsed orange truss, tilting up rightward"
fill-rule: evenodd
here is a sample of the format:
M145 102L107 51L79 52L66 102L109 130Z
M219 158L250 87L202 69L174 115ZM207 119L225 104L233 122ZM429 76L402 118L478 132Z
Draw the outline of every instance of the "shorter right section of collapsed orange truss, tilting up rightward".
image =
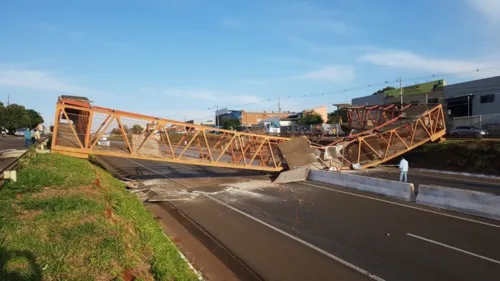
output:
M341 145L340 160L344 166L359 164L373 167L398 157L426 142L437 141L446 134L441 105L407 107L406 116L379 125L375 130L358 134L354 139L335 142Z

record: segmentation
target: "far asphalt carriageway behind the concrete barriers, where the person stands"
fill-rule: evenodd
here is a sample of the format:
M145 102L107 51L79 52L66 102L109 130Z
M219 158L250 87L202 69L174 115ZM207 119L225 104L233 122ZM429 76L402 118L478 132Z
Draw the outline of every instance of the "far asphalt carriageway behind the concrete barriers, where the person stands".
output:
M359 172L359 174L369 177L399 181L399 172L397 169L375 168ZM427 172L412 170L410 168L408 173L408 182L414 183L416 187L420 184L441 185L500 195L500 180L495 178Z

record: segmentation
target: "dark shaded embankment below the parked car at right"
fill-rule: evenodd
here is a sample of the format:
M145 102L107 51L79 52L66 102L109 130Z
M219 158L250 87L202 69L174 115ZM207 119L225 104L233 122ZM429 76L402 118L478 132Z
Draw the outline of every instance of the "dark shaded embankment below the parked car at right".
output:
M500 175L500 142L444 141L425 144L404 155L414 168ZM398 159L395 159L399 161Z

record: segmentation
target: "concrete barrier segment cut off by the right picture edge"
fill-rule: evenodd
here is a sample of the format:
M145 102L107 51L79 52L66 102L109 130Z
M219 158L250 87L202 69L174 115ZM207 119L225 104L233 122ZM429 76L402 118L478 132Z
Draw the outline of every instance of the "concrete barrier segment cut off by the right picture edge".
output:
M500 196L435 185L419 185L418 204L500 220Z

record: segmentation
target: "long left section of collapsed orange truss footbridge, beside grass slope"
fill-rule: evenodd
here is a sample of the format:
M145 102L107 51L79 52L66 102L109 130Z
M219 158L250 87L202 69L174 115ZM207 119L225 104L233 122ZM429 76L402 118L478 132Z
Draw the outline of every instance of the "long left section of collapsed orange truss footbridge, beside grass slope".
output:
M105 137L105 138L103 138ZM263 171L283 168L287 138L204 127L59 98L51 150Z

